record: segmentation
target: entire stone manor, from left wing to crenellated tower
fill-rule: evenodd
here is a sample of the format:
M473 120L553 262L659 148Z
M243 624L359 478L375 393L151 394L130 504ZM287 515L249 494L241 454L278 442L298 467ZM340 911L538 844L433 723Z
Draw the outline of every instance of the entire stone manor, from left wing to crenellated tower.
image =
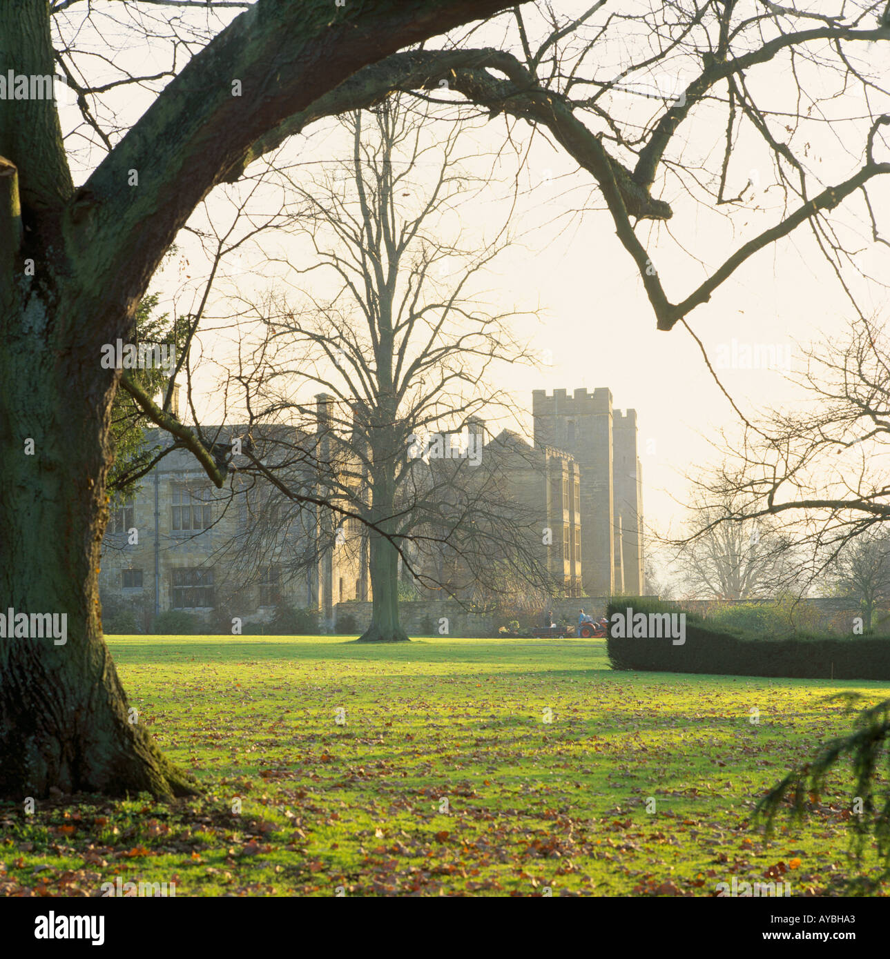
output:
M317 397L329 409L330 397ZM541 516L552 534L547 570L565 596L644 592L642 477L637 413L613 409L612 393L565 389L532 394L533 442L504 430L481 433L509 493ZM320 417L321 422L321 417ZM288 429L288 428L278 428ZM218 440L247 433L217 428ZM312 442L292 430L295 443ZM152 431L150 441L171 444ZM237 467L238 457L233 460ZM309 478L311 480L311 478ZM307 480L307 481L309 481ZM131 500L113 503L103 544L103 602L131 606L140 628L155 615L184 610L210 617L268 619L279 604L310 608L332 625L338 603L371 598L368 536L358 521L335 524L319 507L303 507L257 545L257 517L269 506L237 469L216 489L191 454L175 450L143 479ZM431 595L431 594L430 594ZM222 631L229 632L226 628Z

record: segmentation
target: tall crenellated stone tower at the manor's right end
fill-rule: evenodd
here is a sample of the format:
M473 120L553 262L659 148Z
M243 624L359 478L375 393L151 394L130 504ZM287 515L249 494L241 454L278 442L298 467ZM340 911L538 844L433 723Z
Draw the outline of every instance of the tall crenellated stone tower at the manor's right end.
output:
M637 412L613 410L606 387L532 392L536 445L575 457L581 470L581 530L587 596L643 592L642 477Z

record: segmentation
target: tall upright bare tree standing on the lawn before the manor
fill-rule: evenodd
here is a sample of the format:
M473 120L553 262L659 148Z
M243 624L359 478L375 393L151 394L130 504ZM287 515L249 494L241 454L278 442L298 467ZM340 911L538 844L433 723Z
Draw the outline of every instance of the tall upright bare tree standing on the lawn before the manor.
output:
M514 314L491 313L478 289L508 246L505 225L490 237L449 225L487 185L460 155L462 128L398 97L343 128L348 160L289 181L293 230L312 256L307 267L289 261L279 285L306 295L240 307L253 307L266 336L238 379L260 420L293 417L324 437L311 452L317 482L371 527L373 615L361 639L394 642L407 639L399 544L422 544L427 557L434 543L456 551L474 580L490 569L483 543L519 545L515 504L468 430L480 412L513 411L508 393L487 386L493 366L529 358L509 330ZM300 398L316 391L317 401ZM540 578L540 559L527 559ZM428 563L415 573L437 579Z

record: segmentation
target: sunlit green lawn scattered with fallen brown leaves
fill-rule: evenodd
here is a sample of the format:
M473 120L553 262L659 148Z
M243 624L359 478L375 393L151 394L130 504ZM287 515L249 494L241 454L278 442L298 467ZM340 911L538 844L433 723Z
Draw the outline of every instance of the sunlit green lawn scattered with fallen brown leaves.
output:
M2 805L0 895L118 876L177 896L712 896L732 877L838 894L849 783L768 845L749 816L849 729L827 696L890 688L613 672L595 640L108 643L204 796Z

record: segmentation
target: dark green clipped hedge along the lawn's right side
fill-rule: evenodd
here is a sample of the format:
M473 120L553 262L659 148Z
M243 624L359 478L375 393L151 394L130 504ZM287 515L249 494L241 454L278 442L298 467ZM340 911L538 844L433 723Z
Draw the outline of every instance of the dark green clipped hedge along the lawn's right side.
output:
M676 606L636 596L609 603L606 647L613 669L707 672L727 676L781 676L788 679L890 680L890 640L872 637L797 636L769 639L710 627L686 613L686 642L613 638L613 614L684 612Z

